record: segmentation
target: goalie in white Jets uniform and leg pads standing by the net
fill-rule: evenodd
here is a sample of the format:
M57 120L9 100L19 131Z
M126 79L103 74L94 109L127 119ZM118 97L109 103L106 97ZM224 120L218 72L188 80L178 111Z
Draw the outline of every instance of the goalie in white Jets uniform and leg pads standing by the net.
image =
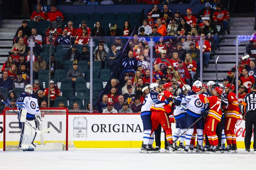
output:
M27 121L33 126L37 126L36 120L42 123L39 117L39 107L36 96L32 94L33 86L31 84L26 85L25 93L21 93L17 102L17 108L19 110L19 128L21 129L19 149L23 151L34 151L36 145L33 144L36 137L36 132L31 129L23 121L22 117L26 117Z

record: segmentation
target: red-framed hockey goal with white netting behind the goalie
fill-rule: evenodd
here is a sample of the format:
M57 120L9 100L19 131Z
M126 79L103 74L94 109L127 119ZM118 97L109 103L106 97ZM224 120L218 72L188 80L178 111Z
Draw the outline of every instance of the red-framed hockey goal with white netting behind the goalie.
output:
M35 150L70 150L75 149L72 135L68 134L68 109L40 109L43 121L39 130L51 128L44 134L36 134ZM19 150L20 133L18 115L13 110L4 110L4 151Z

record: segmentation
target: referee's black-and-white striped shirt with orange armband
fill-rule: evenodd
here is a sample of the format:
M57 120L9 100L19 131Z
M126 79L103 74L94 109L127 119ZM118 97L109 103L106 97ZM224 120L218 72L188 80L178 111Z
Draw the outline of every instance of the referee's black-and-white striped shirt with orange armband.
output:
M248 111L256 110L256 91L251 91L244 96L244 100L241 105L242 116Z

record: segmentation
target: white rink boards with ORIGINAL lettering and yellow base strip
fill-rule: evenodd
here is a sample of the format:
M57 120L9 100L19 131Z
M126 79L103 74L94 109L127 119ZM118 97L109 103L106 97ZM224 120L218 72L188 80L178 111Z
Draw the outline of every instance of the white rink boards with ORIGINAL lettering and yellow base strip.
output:
M56 119L56 115L47 117L47 120L43 119L44 124L52 128L52 131L44 134L45 138L52 140L47 140L47 142L58 141L57 138L59 136L66 135L66 131L63 129L65 128L65 122L61 120L56 121ZM18 132L20 130L17 128L17 125L9 124L9 126L6 129L6 134L9 133L18 142L20 134L13 133L13 131ZM239 120L236 123L235 134L238 148L244 148L244 127L244 121ZM3 115L0 114L0 148L3 147L3 129ZM143 124L140 114L137 113L69 113L68 131L68 138L72 138L76 148L137 148L141 146ZM174 131L175 124L172 124L172 132ZM164 142L163 132L161 134L161 141ZM40 143L40 141L36 142Z

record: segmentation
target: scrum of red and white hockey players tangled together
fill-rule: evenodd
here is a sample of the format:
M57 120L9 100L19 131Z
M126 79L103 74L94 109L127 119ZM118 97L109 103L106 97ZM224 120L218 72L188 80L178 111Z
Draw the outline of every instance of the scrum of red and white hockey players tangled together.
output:
M165 152L237 153L234 129L240 115L233 84L224 87L214 81L207 85L195 81L192 88L184 85L177 97L172 95L170 82L151 83L149 89L140 115L144 129L141 153L160 152L160 147L153 147L159 124L167 140ZM172 123L176 125L175 133Z

